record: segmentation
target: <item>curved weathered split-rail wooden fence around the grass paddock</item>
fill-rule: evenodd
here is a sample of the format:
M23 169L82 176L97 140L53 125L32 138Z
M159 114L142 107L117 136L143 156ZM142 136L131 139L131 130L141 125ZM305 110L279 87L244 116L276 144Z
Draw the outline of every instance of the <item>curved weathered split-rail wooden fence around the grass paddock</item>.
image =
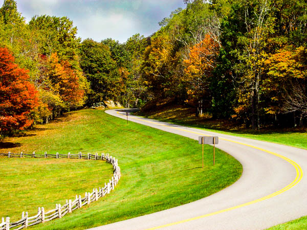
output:
M61 206L61 204L56 204L55 209L49 210L45 212L45 209L38 208L38 212L35 216L28 216L28 212L23 212L21 215L21 219L16 222L10 222L10 217L4 217L2 218L2 222L0 222L0 230L9 230L9 229L22 229L25 227L29 227L38 223L47 222L56 218L62 218L68 213L71 213L75 211L76 209L80 209L82 206L86 204L90 204L93 201L97 201L100 197L105 196L106 194L110 193L111 190L114 190L114 187L117 185L121 173L120 173L120 167L118 166L118 160L115 157L109 156L108 154L104 155L104 153L101 153L101 156L98 155L98 153L90 154L87 153L87 155L82 154L79 152L78 154L71 154L70 152L68 154L48 154L45 152L45 154L35 154L33 152L32 154L24 154L21 152L20 154L16 153L0 153L0 155L11 157L53 157L53 158L74 158L74 159L94 159L94 160L106 160L106 162L113 165L114 173L112 176L112 179L109 180L108 183L104 183L104 187L99 189L93 189L93 192L86 192L84 197L81 197L81 195L76 195L76 198L74 200L66 200L66 203Z

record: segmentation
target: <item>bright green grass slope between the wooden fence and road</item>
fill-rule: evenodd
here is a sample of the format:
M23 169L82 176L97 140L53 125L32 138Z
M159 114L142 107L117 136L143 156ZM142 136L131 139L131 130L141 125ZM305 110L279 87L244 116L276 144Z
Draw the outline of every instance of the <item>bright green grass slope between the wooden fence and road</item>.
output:
M197 141L133 122L127 125L103 110L71 112L62 120L6 140L19 143L6 151L106 152L118 158L122 178L115 191L98 202L37 229L84 229L165 210L218 192L242 174L242 165L223 151L216 150L213 167L213 149L206 145L203 169Z

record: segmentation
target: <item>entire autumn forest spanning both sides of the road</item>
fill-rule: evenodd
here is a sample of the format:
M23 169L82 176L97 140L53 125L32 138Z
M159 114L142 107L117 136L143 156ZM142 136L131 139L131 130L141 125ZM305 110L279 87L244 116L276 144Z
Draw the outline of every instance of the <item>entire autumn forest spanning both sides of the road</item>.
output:
M0 9L0 136L104 100L174 98L247 128L307 125L305 0L184 0L149 37L77 37L68 17Z

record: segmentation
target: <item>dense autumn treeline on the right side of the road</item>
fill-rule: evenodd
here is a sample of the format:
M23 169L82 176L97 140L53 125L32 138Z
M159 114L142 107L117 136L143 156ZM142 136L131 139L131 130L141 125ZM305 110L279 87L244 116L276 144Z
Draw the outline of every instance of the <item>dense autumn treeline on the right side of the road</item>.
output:
M306 1L185 2L144 52L151 95L256 129L306 124Z

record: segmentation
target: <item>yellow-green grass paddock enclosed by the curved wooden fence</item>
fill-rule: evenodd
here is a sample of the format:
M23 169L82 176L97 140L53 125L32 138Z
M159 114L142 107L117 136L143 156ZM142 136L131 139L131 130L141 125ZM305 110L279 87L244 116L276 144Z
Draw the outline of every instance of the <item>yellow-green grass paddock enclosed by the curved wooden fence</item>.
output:
M0 217L11 222L21 213L55 209L76 195L104 186L113 175L111 164L99 160L65 158L0 158Z

